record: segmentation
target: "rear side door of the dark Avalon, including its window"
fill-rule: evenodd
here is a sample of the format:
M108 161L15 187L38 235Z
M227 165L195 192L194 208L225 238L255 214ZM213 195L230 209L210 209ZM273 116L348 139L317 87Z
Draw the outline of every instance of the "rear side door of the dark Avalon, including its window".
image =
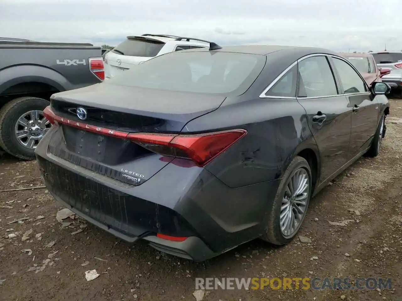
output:
M318 145L322 183L349 160L352 108L338 93L326 55L302 58L298 68L297 100L306 110L308 126Z

